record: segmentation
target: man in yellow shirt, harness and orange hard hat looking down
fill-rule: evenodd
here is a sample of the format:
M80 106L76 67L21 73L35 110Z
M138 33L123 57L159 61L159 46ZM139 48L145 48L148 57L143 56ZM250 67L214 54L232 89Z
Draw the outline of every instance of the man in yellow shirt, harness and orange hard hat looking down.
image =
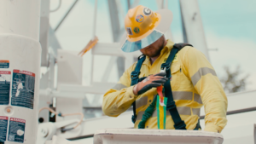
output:
M153 12L142 5L129 9L121 49L140 50L143 55L103 96L102 111L118 117L133 105L134 128L140 128L145 111L158 94L157 87L164 85L163 94L168 98L166 129L201 130L200 110L204 106L204 130L220 133L227 124L224 89L201 51L190 44L166 40L164 33L171 23L172 11L168 9ZM144 122L144 129L158 128L156 113L154 110Z

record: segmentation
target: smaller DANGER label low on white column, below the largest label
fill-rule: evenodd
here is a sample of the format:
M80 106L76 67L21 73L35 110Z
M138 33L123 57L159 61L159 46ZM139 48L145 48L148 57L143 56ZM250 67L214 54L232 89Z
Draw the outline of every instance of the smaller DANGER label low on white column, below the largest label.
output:
M20 118L9 118L8 141L24 142L26 120Z

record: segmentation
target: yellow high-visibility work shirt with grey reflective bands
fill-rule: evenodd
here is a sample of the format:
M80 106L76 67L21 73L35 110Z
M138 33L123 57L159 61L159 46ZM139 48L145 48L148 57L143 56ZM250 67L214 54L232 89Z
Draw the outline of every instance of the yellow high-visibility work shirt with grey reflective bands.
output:
M151 65L147 56L141 67L139 78L160 72L160 66L168 58L174 43L167 40L160 56ZM144 111L157 95L156 88L149 89L142 95L134 95L131 86L131 72L137 62L127 69L112 89L103 97L102 111L110 116L117 117L125 112L133 101L136 101L137 120L134 128L138 127ZM198 49L186 46L181 49L171 66L172 94L176 102L177 111L186 124L187 130L194 130L200 118L200 109L205 108L206 131L221 132L227 124L226 112L228 101L224 89L220 84L216 72L206 56ZM170 112L166 112L166 129L174 130L174 123ZM145 129L158 129L157 113L154 111L145 124Z

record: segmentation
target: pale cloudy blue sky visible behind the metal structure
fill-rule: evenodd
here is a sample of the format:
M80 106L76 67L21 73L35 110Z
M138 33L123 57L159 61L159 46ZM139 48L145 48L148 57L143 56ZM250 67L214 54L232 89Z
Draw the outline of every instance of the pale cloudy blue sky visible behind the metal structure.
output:
M58 0L51 0L51 9L57 6ZM133 2L131 0L131 2ZM247 89L256 89L256 1L255 0L198 0L201 18L207 38L212 66L218 77L224 77L224 66L235 68L240 65L245 73L249 73L250 84ZM50 25L55 27L66 13L73 0L62 0L61 9L50 14ZM94 19L94 0L80 0L67 20L63 22L56 36L62 49L79 51L90 41ZM127 13L126 1L121 0L124 13ZM157 10L154 0L141 0L139 4ZM174 15L171 26L175 43L183 42L178 0L169 0L168 9ZM121 14L120 14L121 15ZM98 0L96 17L96 36L102 43L112 43L112 33L108 14L108 1ZM123 21L120 20L121 26ZM192 43L193 44L193 43ZM84 84L90 77L90 53L84 55ZM101 81L110 56L97 56L95 81ZM102 63L102 61L104 61ZM113 67L109 81L116 82L116 66Z

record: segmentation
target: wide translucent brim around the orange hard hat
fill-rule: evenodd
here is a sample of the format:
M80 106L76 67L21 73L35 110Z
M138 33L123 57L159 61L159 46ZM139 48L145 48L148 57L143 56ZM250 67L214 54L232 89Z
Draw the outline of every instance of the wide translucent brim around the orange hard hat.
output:
M157 26L154 27L152 32L147 32L137 39L137 41L132 41L130 38L127 38L127 33L125 32L125 37L121 40L121 49L124 52L134 52L139 49L143 49L148 45L157 41L171 26L172 23L172 11L169 9L160 9L155 11L155 13L160 14L160 22Z

